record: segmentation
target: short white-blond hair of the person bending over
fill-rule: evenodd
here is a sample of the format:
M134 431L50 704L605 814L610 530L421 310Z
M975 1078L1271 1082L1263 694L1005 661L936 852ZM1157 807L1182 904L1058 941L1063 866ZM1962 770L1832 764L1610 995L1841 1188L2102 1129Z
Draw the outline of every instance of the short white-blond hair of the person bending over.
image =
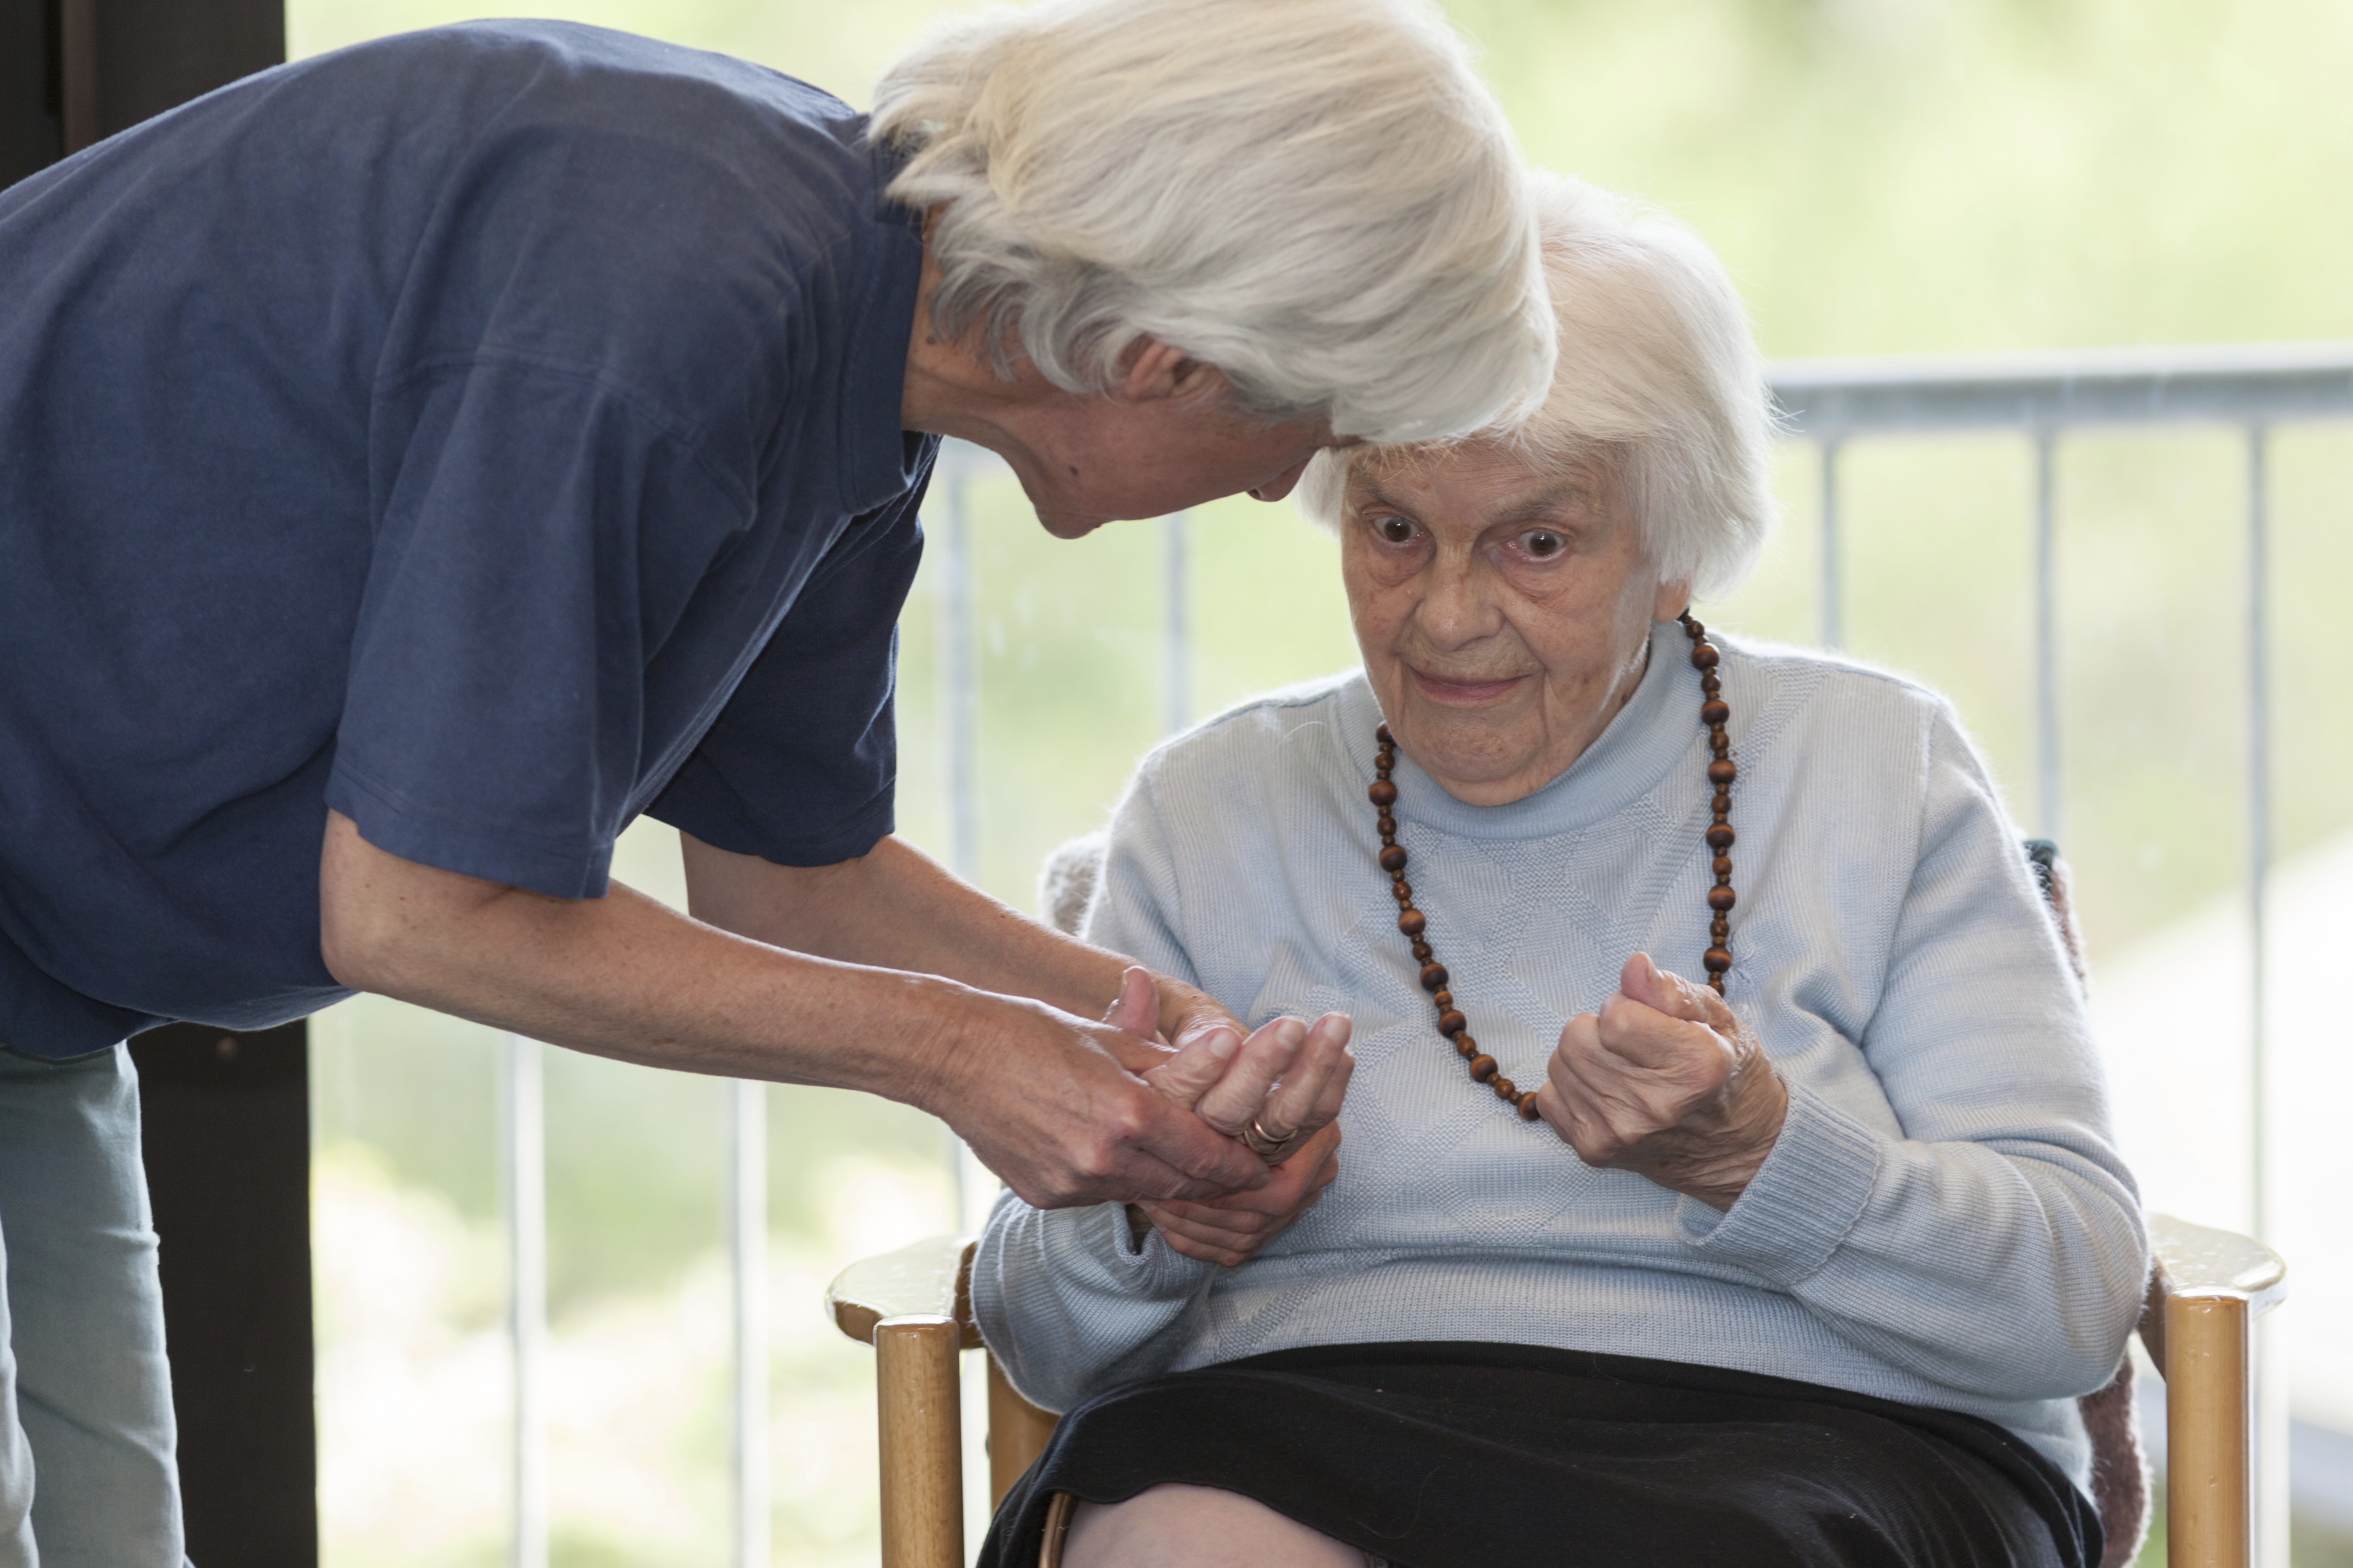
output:
M1068 393L1139 339L1252 418L1379 442L1544 395L1511 129L1424 0L1045 0L951 19L875 87L932 226L932 329Z

